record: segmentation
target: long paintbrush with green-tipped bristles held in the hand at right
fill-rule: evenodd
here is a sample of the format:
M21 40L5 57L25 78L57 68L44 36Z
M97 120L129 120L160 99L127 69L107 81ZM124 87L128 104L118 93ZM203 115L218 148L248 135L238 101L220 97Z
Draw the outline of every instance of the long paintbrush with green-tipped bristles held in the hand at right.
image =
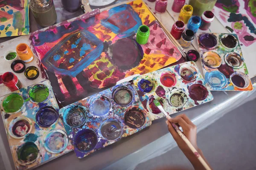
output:
M159 108L159 110L166 116L166 119L171 119L171 116L164 110L163 106L160 104L158 100L154 100L154 104ZM186 136L180 131L178 125L176 123L171 123L172 127L176 130L176 132L180 135L181 139L188 145L189 149L195 154L195 156L198 158L198 160L203 164L204 168L206 170L211 170L209 165L204 161L202 156L198 153L198 151L195 149L195 147L189 142L189 139L186 138Z

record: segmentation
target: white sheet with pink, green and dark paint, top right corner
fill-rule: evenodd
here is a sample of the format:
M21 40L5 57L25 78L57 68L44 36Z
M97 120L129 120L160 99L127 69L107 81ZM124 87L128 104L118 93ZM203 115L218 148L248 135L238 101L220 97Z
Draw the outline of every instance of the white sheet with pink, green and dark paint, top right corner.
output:
M231 33L237 34L251 77L256 76L256 70L253 69L256 63L255 3L255 0L218 0L213 8L215 17L222 25Z

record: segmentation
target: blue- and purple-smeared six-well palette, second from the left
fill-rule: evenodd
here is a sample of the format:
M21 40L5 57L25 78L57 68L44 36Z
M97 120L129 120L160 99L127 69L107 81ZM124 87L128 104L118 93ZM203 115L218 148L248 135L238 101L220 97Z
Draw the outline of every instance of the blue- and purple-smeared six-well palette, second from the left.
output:
M151 125L129 82L61 108L59 114L79 158Z

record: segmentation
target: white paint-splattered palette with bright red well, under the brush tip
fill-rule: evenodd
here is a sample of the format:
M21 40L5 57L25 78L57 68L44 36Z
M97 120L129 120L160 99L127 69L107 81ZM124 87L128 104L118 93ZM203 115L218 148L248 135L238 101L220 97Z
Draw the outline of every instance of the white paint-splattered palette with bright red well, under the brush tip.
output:
M134 77L133 81L151 120L164 117L154 105L154 99L158 100L169 114L213 100L193 61Z

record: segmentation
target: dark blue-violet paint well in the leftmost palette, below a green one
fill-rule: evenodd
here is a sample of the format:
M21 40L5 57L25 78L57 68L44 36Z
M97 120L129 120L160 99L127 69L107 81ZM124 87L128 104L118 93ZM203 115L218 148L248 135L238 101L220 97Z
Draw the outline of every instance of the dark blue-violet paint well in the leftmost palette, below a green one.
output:
M58 112L51 106L41 108L35 115L35 120L41 127L50 127L58 120Z

